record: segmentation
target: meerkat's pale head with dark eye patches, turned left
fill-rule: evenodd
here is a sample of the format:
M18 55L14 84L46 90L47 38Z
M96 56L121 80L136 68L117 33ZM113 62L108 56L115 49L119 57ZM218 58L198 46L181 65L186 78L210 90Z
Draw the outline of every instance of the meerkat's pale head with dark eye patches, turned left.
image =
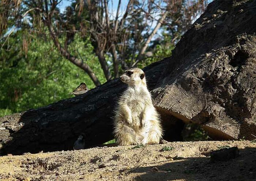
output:
M140 68L131 68L120 76L120 80L129 86L144 84L146 86L145 73Z

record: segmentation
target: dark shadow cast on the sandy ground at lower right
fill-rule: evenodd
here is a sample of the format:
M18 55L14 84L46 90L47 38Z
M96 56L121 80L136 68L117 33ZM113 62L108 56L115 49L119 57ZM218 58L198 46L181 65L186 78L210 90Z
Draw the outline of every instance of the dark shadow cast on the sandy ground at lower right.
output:
M130 173L145 173L137 176L137 181L255 181L256 149L246 147L240 150L239 157L229 161L210 162L209 157L181 158L155 167L137 167Z

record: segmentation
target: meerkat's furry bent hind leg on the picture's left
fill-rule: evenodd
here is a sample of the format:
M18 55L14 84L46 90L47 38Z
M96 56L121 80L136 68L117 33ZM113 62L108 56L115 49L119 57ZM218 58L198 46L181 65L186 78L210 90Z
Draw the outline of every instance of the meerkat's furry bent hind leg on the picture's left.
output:
M114 135L118 145L125 146L136 144L135 131L121 122L115 125Z

